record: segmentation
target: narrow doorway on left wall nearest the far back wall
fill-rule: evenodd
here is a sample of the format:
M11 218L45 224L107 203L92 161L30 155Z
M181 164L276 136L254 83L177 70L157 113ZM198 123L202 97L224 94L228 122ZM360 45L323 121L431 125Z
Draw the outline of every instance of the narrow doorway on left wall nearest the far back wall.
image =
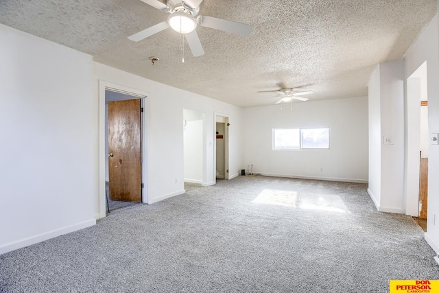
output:
M215 179L228 179L228 123L227 116L215 116Z

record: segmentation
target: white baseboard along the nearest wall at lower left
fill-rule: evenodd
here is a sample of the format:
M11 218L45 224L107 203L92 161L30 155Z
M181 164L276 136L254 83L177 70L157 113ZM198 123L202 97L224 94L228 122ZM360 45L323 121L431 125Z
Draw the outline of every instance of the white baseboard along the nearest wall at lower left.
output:
M92 220L86 220L84 222L80 222L78 224L75 225L71 225L71 226L67 226L67 227L63 227L60 229L56 229L53 231L49 231L47 233L41 233L39 235L34 235L32 237L29 238L25 238L23 240L19 240L16 242L12 242L9 244L5 244L3 246L0 246L0 255L2 255L3 253L8 253L10 251L14 251L16 249L21 249L23 247L32 245L32 244L36 244L38 242L43 242L45 240L49 240L51 238L56 238L59 235L64 235L67 233L71 233L74 231L78 231L87 227L91 227L93 225L96 225L96 220L92 219Z

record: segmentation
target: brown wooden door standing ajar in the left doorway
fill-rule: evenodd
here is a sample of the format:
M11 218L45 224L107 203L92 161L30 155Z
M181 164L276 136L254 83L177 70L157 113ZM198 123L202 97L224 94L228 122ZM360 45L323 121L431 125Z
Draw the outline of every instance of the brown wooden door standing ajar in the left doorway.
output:
M112 201L142 201L140 99L108 102L108 175Z

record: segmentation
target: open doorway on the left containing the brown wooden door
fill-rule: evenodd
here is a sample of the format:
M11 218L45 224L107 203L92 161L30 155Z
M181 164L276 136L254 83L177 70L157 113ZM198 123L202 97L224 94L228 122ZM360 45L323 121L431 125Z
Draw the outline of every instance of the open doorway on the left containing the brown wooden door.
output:
M139 97L105 91L107 213L142 201L142 104Z

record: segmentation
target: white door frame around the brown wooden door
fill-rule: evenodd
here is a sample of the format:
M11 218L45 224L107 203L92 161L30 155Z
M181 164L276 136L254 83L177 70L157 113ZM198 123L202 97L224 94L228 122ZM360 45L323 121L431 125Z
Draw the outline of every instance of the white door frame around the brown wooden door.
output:
M112 82L99 80L99 150L98 150L98 196L97 207L99 214L95 218L104 218L106 216L106 194L105 194L105 162L107 159L107 153L105 151L105 91L111 90L113 92L121 92L133 97L146 98L150 96L150 92L144 90L138 90L137 88L129 88L128 86L121 86L120 84L113 84ZM150 144L150 140L147 139L147 119L150 117L147 114L150 111L149 99L143 99L143 115L142 118L142 182L144 188L142 190L142 202L148 203L148 194L150 194L150 181L148 180L150 172L147 169L148 153L147 149ZM145 143L146 142L146 143ZM146 158L146 162L143 158Z

